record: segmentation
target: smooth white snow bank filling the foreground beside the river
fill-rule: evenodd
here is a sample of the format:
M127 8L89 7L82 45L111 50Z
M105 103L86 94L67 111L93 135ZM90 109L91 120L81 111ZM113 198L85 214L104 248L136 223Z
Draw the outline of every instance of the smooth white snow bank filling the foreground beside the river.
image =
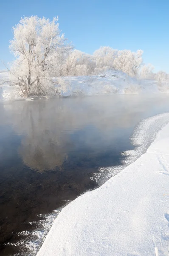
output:
M138 160L68 204L37 256L166 256L168 240L169 124Z

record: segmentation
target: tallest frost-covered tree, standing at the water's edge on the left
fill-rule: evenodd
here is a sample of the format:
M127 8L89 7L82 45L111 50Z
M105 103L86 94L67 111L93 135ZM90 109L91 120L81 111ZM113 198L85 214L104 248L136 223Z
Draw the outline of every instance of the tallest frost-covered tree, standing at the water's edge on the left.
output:
M57 94L65 85L51 79L65 54L72 48L60 35L58 17L52 21L45 17L24 17L13 27L10 41L15 61L11 66L11 84L18 85L22 95L43 96ZM62 87L62 88L61 88ZM59 88L59 90L58 90Z

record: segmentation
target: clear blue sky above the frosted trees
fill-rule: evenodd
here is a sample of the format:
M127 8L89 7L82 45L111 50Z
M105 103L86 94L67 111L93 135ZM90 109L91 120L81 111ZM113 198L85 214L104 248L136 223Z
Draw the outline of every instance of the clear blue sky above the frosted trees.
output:
M145 63L169 73L169 0L2 0L0 59L6 63L13 59L12 26L31 15L58 15L65 37L83 52L100 46L143 49Z

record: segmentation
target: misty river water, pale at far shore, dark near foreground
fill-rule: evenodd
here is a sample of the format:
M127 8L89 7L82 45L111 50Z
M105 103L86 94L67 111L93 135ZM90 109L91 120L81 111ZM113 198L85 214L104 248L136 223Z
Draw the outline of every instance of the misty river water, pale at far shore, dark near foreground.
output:
M100 167L120 165L134 126L169 112L169 96L0 102L0 255L37 215L88 189ZM19 251L18 251L19 250Z

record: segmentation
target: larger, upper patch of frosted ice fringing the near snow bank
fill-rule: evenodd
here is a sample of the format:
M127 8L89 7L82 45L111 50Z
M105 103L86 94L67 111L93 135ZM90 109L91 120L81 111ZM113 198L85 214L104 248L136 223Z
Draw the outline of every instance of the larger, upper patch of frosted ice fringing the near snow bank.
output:
M149 145L155 140L155 137L167 123L169 123L169 113L158 114L142 120L135 126L131 137L131 143L135 146L133 150L122 152L125 160L122 160L121 166L113 166L99 169L100 173L93 175L93 179L97 182L104 183L108 178L111 178L121 172L125 167L133 163L142 154L144 154Z

